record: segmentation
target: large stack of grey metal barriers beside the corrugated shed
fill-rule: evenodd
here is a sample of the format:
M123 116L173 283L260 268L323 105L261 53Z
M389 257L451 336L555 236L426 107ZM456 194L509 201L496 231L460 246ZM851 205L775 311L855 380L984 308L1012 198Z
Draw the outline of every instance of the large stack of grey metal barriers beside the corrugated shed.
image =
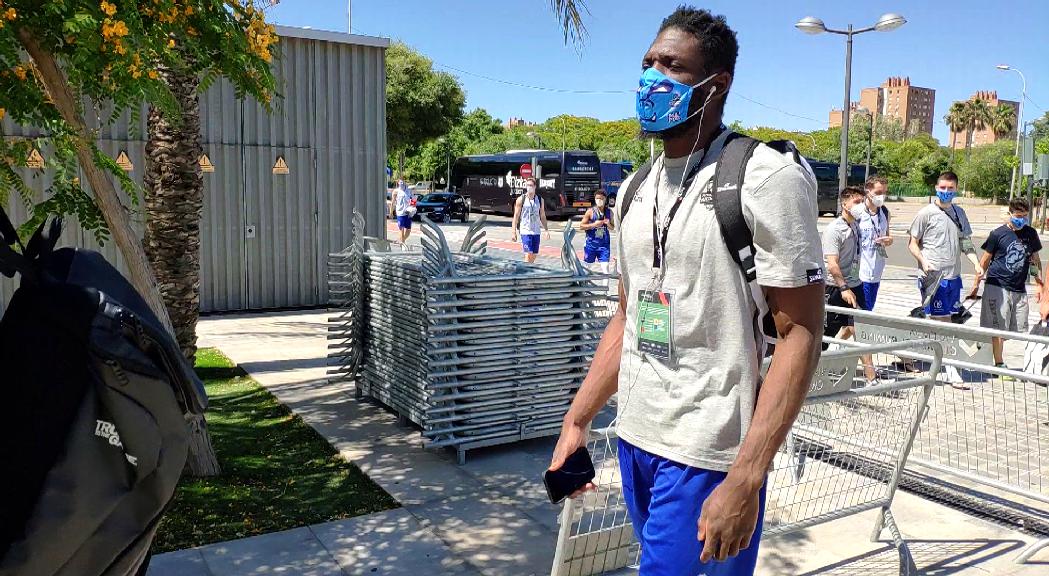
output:
M571 250L560 268L493 258L483 226L457 252L424 218L422 251L358 260L355 242L333 255L334 282L350 293L344 305L359 311L333 318L335 337L357 335L337 344L335 377L421 426L429 446L455 448L459 462L473 448L556 434L607 322L595 283L603 277Z

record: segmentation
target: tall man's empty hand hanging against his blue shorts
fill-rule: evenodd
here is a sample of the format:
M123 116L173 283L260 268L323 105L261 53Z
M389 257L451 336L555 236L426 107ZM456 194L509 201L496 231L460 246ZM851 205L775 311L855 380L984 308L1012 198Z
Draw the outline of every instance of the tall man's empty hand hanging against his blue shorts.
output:
M751 489L726 476L703 503L698 538L703 542L700 561L723 562L750 547L757 528L761 489Z

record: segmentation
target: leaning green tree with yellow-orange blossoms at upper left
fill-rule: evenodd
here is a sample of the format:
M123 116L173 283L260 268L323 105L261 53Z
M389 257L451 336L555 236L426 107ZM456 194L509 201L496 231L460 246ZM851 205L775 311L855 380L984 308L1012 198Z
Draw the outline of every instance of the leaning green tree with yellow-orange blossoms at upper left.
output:
M72 215L100 242L111 235L129 280L165 328L177 336L114 182L132 204L138 201L138 190L98 147L98 132L85 122L84 101L95 103L93 112L104 125L129 110L136 115L144 102L172 125L183 124L183 94L166 82L170 71L202 77L206 84L226 77L238 95L253 95L269 106L274 91L272 33L259 12L234 0L5 0L0 12L0 115L9 114L40 135L0 137L0 201L17 191L31 209L28 227L50 214ZM112 113L100 114L100 103ZM192 130L192 122L187 125ZM50 150L45 168L51 185L43 199L34 196L17 170L34 148ZM147 216L156 214L163 212ZM177 247L193 249L192 242ZM202 415L191 419L190 427L191 469L217 472Z

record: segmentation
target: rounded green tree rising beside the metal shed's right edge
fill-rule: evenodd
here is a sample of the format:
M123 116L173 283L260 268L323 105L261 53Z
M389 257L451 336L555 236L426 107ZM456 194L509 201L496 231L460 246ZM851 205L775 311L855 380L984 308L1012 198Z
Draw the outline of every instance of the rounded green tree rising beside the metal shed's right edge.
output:
M463 119L466 94L455 77L394 42L386 50L386 149L401 154L447 134Z

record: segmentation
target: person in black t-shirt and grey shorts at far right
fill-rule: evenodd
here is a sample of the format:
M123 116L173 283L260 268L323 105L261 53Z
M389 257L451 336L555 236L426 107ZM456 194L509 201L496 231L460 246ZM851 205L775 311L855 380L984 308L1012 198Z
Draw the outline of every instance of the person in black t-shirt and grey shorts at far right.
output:
M1009 221L994 229L983 244L977 283L986 278L980 325L1009 332L1027 332L1027 278L1033 266L1034 278L1042 276L1037 232L1027 226L1030 206L1025 198L1009 200ZM984 272L986 271L986 272ZM994 365L1005 367L1004 338L991 340Z

